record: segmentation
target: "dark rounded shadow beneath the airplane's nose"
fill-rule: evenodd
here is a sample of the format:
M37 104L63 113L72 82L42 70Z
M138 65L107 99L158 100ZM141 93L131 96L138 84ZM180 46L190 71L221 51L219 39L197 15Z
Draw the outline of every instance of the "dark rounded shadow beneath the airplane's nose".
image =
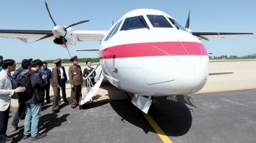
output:
M182 136L187 134L192 125L192 115L189 108L182 103L165 98L156 98L148 115L159 125L167 136ZM147 134L154 129L148 123L143 113L129 99L110 101L111 107L122 117L122 121L132 123L142 128Z

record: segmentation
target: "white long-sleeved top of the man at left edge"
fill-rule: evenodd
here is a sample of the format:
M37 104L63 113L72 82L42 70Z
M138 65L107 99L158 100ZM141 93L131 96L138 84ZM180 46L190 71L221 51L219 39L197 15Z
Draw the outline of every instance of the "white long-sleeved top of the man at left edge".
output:
M10 106L12 95L12 83L6 71L0 71L0 111L5 111Z

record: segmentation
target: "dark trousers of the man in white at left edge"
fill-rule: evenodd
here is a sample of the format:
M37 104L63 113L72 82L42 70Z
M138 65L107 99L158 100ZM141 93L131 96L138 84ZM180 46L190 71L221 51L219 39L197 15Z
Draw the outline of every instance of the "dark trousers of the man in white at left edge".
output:
M7 137L7 124L9 119L10 106L5 111L0 111L0 142L5 142Z

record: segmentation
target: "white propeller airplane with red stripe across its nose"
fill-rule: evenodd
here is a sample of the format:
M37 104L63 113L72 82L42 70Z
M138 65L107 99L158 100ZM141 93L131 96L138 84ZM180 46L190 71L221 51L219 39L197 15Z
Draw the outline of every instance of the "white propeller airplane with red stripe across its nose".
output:
M48 4L45 7L50 15ZM132 104L148 113L152 97L165 96L195 107L187 94L196 93L206 84L209 58L200 39L249 36L252 33L194 32L173 17L157 9L135 9L122 16L109 31L75 31L72 26L57 25L48 30L0 29L0 36L53 40L56 45L75 46L77 42L99 41L102 74L128 93ZM70 55L70 54L69 54ZM71 55L70 55L71 56Z

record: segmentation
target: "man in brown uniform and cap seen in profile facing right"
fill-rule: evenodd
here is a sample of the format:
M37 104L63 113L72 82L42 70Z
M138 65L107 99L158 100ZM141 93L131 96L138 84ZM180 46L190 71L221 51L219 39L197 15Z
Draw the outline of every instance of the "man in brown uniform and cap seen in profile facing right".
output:
M60 87L61 87L61 58L57 58L53 61L56 64L56 67L53 68L52 77L51 77L51 86L53 87L53 112L59 112L59 101L61 101L60 96Z

